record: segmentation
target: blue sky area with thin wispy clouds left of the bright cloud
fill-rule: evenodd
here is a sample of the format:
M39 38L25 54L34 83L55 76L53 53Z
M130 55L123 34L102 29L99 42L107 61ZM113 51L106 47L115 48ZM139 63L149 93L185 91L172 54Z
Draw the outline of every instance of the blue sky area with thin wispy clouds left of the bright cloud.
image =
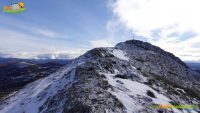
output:
M3 7L17 2L3 0L0 4ZM21 14L0 14L0 30L4 32L0 48L4 51L90 49L90 41L110 34L106 27L112 10L107 0L26 0L24 3L27 10Z

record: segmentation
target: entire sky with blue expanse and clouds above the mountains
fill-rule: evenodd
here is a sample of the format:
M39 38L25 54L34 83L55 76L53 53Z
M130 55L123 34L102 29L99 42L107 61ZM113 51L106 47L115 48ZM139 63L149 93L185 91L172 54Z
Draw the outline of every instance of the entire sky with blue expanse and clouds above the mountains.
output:
M23 0L21 0L23 1ZM1 0L0 7L18 0ZM185 61L200 61L199 0L24 0L21 14L0 12L0 53L67 53L133 38Z

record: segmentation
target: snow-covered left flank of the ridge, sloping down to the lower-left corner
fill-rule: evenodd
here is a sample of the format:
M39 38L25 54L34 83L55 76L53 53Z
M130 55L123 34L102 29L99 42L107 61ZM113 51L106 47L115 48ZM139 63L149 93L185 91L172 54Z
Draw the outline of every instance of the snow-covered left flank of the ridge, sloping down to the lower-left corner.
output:
M49 97L73 81L77 63L37 80L0 104L0 113L38 113Z

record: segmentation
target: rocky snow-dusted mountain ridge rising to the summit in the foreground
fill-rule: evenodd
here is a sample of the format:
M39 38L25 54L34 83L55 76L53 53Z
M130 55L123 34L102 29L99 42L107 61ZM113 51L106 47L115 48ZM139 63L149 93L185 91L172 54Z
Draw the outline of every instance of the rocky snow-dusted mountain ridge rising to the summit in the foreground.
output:
M199 113L200 74L171 53L129 40L95 48L0 102L0 113Z

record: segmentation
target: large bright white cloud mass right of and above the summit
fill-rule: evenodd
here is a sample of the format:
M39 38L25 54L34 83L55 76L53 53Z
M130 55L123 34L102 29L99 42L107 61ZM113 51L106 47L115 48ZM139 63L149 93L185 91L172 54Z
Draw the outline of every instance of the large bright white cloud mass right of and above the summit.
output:
M113 0L117 21L183 60L200 61L199 0ZM184 33L195 36L184 38ZM176 35L173 35L176 34ZM199 57L199 58L198 58Z

